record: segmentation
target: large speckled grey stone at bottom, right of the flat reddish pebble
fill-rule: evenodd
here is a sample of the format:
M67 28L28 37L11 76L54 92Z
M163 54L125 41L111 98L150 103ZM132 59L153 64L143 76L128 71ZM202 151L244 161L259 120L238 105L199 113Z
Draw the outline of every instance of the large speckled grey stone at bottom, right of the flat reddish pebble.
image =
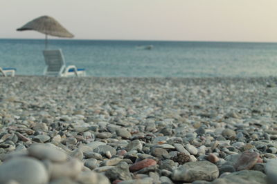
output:
M213 181L219 176L216 165L208 161L188 162L173 170L173 181L193 182L197 180Z

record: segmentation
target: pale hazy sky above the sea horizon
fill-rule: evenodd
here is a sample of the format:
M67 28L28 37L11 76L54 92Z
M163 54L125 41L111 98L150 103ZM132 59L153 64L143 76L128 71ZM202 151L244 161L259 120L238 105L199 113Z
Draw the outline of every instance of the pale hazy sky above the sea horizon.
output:
M0 38L54 17L74 39L277 42L277 0L0 0ZM54 38L54 37L52 37Z

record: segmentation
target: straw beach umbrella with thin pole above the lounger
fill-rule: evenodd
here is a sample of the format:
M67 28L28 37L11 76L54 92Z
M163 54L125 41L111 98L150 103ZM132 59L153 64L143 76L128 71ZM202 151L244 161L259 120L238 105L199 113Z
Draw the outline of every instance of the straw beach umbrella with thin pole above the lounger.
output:
M72 38L74 37L66 28L64 28L58 21L56 21L53 17L42 16L33 21L29 21L21 28L18 28L17 31L24 30L35 30L37 32L41 32L45 34L45 48L47 48L47 36L51 35L54 37L64 37L64 38Z

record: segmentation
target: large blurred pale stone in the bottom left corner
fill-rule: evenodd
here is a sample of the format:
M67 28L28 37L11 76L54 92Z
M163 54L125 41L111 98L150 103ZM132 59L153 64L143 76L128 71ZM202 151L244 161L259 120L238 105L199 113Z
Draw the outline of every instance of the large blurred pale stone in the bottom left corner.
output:
M48 173L36 159L18 157L0 165L0 183L11 180L21 184L44 184L48 183Z

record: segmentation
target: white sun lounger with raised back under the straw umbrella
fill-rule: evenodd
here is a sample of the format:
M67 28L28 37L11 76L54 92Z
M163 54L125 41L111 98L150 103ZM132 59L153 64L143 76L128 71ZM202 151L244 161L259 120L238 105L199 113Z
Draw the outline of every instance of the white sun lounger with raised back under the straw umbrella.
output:
M85 76L84 68L76 68L75 65L66 67L62 50L44 50L46 76Z

